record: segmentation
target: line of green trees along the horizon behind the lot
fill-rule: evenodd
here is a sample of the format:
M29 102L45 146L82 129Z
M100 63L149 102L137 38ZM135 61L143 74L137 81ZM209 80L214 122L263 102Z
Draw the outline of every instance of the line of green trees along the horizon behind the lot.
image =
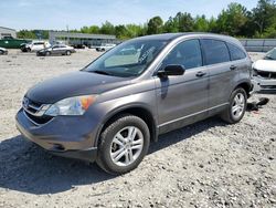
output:
M213 32L237 38L276 38L276 4L275 0L259 0L255 8L247 10L241 3L233 2L216 18L206 18L204 14L192 17L189 12L178 12L167 21L159 15L144 24L114 25L106 21L102 27L82 27L70 32L115 34L120 40L168 32ZM18 37L35 39L38 33L38 30L21 30ZM40 35L43 39L49 38L47 31L40 31Z

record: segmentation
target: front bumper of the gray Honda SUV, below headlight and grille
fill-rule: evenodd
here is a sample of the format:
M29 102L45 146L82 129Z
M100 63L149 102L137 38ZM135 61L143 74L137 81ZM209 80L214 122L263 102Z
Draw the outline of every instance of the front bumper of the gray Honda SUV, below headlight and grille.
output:
M45 124L35 125L23 108L15 116L19 132L47 152L63 157L95 162L97 147L93 147L91 128L83 125L79 119L54 117Z

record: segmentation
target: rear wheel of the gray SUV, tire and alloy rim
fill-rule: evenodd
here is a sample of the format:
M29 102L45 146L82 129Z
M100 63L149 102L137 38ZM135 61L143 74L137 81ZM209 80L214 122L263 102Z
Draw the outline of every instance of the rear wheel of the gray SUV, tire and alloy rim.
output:
M244 89L235 89L230 96L230 105L222 113L221 118L229 124L238 123L247 107L247 94Z

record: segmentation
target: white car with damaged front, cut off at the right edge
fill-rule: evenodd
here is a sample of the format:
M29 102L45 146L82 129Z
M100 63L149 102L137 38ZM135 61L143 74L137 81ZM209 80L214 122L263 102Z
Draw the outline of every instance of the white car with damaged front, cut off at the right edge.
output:
M268 51L263 60L254 62L252 67L257 90L276 90L276 48Z

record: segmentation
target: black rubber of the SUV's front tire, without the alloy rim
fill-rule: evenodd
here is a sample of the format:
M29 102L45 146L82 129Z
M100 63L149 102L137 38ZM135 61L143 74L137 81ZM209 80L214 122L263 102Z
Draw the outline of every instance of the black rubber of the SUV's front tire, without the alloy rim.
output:
M125 174L136 168L142 160L144 156L147 154L148 148L149 148L149 143L150 143L150 133L149 133L147 124L141 118L136 117L136 116L123 117L116 121L114 124L115 125L112 124L107 128L108 129L107 133L105 131L103 134L105 138L103 138L104 142L99 146L99 157L100 157L100 162L104 165L105 170L112 174ZM128 166L118 166L113 162L110 157L110 146L112 146L114 136L119 131L121 131L124 127L127 127L127 126L135 126L141 131L142 136L144 136L144 147L139 157L132 164Z

